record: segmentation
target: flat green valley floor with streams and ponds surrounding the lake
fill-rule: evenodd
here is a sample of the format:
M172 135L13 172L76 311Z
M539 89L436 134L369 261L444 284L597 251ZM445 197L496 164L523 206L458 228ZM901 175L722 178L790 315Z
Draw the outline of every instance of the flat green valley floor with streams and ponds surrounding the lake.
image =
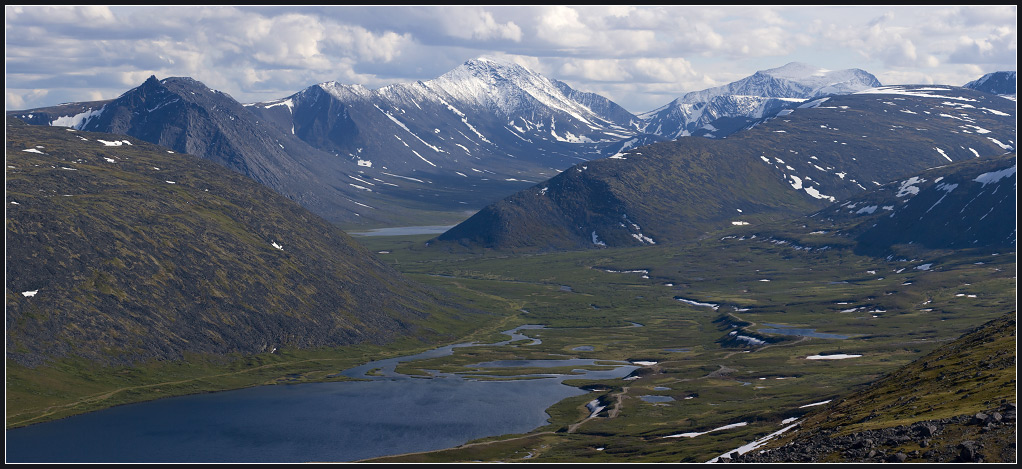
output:
M413 280L492 313L467 322L438 318L437 337L449 339L232 361L196 357L117 371L65 363L40 374L8 366L7 426L167 395L338 379L330 375L370 360L440 342L496 342L498 331L539 324L545 328L527 331L528 340L459 348L397 371L513 379L551 371L472 365L565 359L639 368L623 380L567 380L590 392L549 408L549 424L526 434L374 461L706 462L805 422L1015 310L1014 252L888 261L722 237L688 246L507 254L442 251L426 246L429 238L359 241ZM53 384L67 376L75 378ZM1014 402L1014 381L970 395L939 418ZM891 426L932 417L920 409L899 418Z

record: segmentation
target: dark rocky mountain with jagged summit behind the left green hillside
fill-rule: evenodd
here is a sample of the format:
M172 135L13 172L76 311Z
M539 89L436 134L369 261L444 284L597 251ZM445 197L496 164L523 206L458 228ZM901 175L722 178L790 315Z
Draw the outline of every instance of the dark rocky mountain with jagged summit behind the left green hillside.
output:
M361 167L276 126L230 96L189 78L156 80L117 99L12 111L29 124L129 135L215 161L260 182L306 208L343 225L399 223L408 203L372 190ZM115 139L110 137L110 139ZM382 183L380 183L382 185ZM393 187L426 186L394 178ZM414 197L415 195L412 195ZM389 205L389 209L379 209Z

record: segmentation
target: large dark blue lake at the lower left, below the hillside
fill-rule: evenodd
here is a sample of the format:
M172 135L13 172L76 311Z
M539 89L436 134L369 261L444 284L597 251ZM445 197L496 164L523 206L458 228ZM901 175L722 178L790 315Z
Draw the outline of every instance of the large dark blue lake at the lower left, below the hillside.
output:
M507 331L507 344L527 338ZM547 423L546 409L586 393L568 378L620 378L636 368L584 376L484 381L455 374L412 378L400 362L443 357L449 345L341 372L364 381L259 386L120 406L7 430L7 462L315 462L451 448ZM373 376L365 373L380 369Z

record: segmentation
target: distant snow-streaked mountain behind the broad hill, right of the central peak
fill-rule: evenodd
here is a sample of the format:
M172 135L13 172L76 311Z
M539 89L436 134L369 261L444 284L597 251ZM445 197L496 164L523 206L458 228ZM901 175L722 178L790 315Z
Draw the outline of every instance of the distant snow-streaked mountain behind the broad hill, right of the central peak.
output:
M646 122L646 132L670 139L724 137L753 120L812 98L879 86L876 77L858 68L828 71L791 62L728 85L688 93L640 116Z

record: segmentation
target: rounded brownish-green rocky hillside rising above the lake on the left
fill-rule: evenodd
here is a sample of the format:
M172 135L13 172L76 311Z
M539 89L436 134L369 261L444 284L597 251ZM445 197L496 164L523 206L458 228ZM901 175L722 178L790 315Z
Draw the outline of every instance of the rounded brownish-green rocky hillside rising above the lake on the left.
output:
M454 311L323 219L135 138L7 125L7 358L37 366L428 335Z

